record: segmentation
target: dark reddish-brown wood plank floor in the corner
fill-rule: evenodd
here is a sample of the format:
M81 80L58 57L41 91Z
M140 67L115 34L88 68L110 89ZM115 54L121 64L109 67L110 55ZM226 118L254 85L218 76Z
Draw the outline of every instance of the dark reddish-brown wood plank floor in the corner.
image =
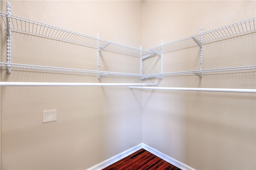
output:
M145 149L140 149L103 170L180 170L180 168Z

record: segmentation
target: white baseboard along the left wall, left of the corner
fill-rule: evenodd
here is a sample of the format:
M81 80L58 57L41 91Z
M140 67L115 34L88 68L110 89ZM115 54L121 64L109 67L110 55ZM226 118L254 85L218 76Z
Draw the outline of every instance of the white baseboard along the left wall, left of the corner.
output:
M126 156L140 150L142 148L142 145L142 143L138 144L137 146L134 146L128 150L125 150L124 152L121 152L120 154L112 156L111 158L104 160L103 162L100 162L99 164L96 164L87 170L102 170L110 166L111 164L114 164L115 162L121 160L122 158L125 158Z

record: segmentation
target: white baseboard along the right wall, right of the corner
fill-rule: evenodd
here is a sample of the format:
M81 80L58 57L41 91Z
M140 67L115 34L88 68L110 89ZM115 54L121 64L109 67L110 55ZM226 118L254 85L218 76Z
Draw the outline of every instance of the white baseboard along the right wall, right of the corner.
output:
M148 152L151 152L152 154L158 156L159 158L165 160L166 162L169 162L170 164L182 169L182 170L195 170L194 168L191 168L190 166L183 164L182 162L166 155L163 154L162 152L142 143L142 148L144 148L145 150L147 150Z

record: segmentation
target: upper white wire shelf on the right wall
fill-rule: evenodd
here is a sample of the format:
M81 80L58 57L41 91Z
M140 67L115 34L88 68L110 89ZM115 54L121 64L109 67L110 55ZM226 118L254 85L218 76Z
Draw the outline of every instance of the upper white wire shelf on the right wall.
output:
M214 30L203 32L202 39L203 39L203 42L210 42L213 40L235 36L237 34L242 34L242 33L250 32L254 30L256 30L256 17L250 18L244 21L236 22L234 24L230 24L220 28L216 28ZM196 34L194 36L189 36L186 38L182 38L180 40L176 40L173 42L168 42L162 45L151 47L149 48L149 50L153 49L156 51L161 51L161 47L162 47L162 53L166 53L175 49L189 47L197 44L195 40L198 42L201 42L200 36L201 34Z

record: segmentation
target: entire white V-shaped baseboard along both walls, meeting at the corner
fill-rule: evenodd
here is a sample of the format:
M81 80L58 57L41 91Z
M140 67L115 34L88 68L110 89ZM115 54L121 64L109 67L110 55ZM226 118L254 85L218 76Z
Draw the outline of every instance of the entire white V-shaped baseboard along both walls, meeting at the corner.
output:
M148 152L151 152L152 154L158 156L159 158L165 160L166 162L169 162L170 164L172 164L182 170L195 170L194 168L191 168L190 166L183 164L182 162L175 160L174 158L171 158L170 156L163 154L162 152L160 152L154 148L151 148L150 146L148 146L144 143L138 144L137 146L134 146L120 154L117 154L107 160L104 160L103 162L100 162L99 164L96 164L87 170L102 170L102 169L110 166L111 164L114 164L115 162L121 160L122 158L125 158L126 156L136 152L137 150L140 150L141 148L147 150Z

